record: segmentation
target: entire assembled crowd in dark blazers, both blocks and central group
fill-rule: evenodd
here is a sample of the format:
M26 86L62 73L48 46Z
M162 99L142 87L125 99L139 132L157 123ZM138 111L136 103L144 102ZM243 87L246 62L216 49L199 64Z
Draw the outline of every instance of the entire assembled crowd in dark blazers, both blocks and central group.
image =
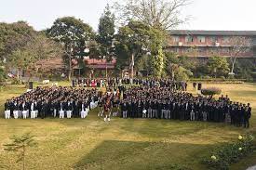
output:
M91 80L90 80L91 81ZM119 82L120 83L117 83ZM185 92L187 84L170 80L110 79L106 92L97 88L37 87L5 104L6 118L60 117L86 118L88 111L99 107L98 116L110 121L110 116L123 118L174 119L208 121L249 127L251 107L219 99L193 96ZM116 84L115 84L116 83Z

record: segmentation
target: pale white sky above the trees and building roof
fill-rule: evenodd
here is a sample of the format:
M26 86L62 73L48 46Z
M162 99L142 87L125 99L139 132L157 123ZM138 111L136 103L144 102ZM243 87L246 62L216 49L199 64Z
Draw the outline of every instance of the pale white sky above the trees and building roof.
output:
M74 16L97 31L104 7L113 1L118 0L2 0L0 21L25 20L39 31L57 18ZM191 0L182 8L182 17L190 20L176 29L256 31L255 7L256 0Z

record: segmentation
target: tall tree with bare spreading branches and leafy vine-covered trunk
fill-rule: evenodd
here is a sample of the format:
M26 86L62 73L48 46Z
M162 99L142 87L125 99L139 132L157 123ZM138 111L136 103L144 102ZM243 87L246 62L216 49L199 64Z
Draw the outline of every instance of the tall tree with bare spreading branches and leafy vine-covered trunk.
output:
M174 28L185 20L181 18L181 8L187 0L127 0L125 5L116 3L117 12L121 18L138 20L150 28L151 46L154 75L160 77L164 68L163 47L166 42L166 31Z

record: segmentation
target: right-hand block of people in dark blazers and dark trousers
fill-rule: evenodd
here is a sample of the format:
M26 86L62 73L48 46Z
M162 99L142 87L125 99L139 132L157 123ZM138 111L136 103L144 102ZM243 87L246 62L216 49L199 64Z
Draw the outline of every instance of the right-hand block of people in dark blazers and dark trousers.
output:
M194 97L170 87L132 87L124 93L120 108L123 118L155 118L190 121L225 122L249 127L249 103Z

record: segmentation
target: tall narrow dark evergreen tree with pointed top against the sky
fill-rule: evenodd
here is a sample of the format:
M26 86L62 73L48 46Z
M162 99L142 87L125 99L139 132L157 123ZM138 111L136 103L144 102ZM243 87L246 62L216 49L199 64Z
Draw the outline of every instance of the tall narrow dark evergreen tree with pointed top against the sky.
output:
M106 57L108 60L112 60L114 56L114 36L115 15L107 5L100 19L96 40L100 45L101 57Z

